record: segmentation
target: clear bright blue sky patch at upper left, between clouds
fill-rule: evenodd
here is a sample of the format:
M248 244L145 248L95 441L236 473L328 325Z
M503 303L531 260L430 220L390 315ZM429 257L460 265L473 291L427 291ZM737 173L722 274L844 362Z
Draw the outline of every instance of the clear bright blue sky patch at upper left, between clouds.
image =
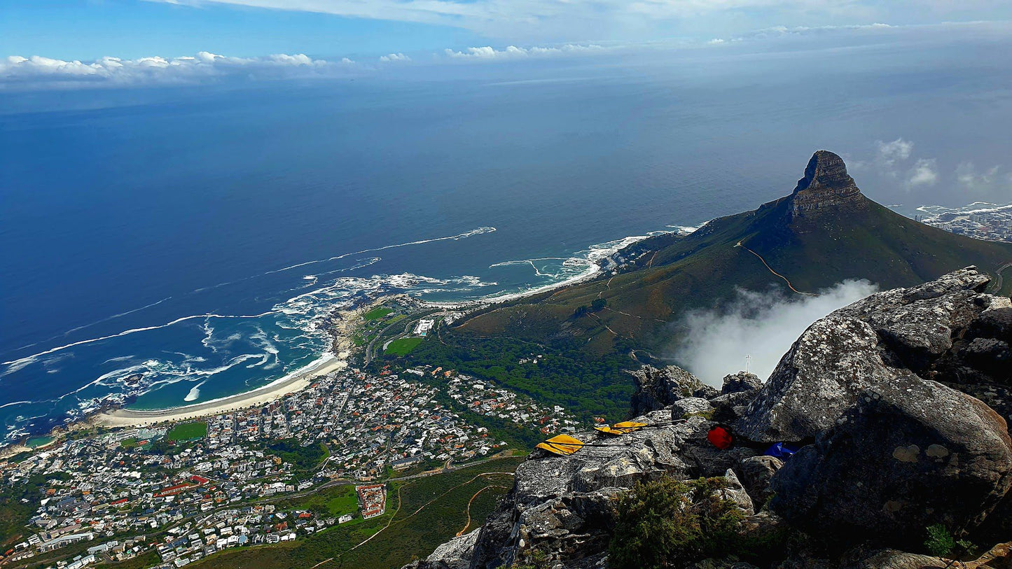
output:
M3 0L0 57L61 60L306 54L361 57L474 44L467 29L301 10L144 0Z

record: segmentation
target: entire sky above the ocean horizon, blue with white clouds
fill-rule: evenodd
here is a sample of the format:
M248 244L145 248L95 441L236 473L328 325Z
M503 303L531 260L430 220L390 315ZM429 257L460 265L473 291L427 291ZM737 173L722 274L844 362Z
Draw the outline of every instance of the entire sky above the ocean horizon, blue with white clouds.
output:
M217 75L190 69L201 63L338 74L352 64L361 72L1010 19L1005 0L4 0L0 82L23 87L28 73L115 79L125 75L110 71L119 67L147 69L149 79L169 66L189 66L177 81Z

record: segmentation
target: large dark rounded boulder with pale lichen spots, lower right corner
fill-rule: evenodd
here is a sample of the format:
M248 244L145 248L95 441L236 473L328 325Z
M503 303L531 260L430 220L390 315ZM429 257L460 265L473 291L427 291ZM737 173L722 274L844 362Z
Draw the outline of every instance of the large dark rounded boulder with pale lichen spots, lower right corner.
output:
M916 376L868 389L772 478L770 501L799 528L846 544L904 546L924 529L978 527L1012 486L1005 420Z

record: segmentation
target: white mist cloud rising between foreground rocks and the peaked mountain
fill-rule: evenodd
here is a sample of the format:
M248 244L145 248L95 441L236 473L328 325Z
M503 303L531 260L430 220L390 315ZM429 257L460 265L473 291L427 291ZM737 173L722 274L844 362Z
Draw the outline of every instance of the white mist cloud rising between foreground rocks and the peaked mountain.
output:
M786 297L779 292L738 290L720 310L690 312L688 329L675 351L679 364L710 385L745 369L765 380L807 327L837 308L875 292L867 281L844 281L819 296Z

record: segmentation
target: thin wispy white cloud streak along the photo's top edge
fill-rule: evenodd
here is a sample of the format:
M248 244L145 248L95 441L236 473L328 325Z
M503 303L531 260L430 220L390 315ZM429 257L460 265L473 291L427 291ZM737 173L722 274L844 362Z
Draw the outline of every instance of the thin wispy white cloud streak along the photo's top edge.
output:
M1007 0L156 0L210 3L410 21L465 28L511 41L581 38L641 39L703 34L734 37L755 28L764 36L827 29L877 29L894 21L1007 20ZM967 5L968 4L968 5ZM847 22L858 25L827 25Z

